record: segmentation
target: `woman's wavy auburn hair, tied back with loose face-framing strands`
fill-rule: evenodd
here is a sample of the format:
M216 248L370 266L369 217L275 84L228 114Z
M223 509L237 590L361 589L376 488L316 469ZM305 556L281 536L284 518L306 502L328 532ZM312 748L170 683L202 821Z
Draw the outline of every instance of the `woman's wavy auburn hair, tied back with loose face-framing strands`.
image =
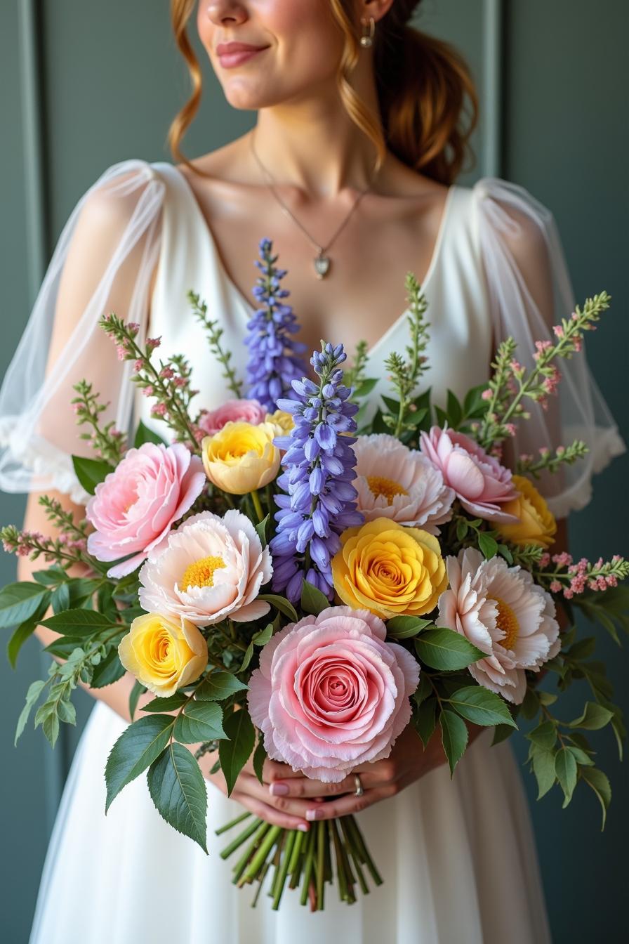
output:
M470 137L478 121L478 97L470 68L454 46L409 25L422 0L394 0L378 22L373 64L380 115L374 115L352 88L360 55L354 0L329 0L345 40L337 81L345 110L376 149L376 167L391 151L408 167L450 185L472 158ZM201 101L203 79L190 44L188 24L195 0L171 0L174 40L190 72L192 93L168 132L174 160L205 175L181 152L181 141Z

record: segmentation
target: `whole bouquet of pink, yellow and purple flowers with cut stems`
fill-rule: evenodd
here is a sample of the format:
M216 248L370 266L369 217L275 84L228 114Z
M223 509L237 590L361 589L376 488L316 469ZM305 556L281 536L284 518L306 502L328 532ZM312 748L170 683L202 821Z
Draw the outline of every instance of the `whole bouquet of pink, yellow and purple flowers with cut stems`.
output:
M604 819L610 786L587 732L611 724L619 750L626 732L604 665L589 661L594 640L575 638L573 613L619 641L617 627L629 627L619 585L629 562L572 563L549 549L555 519L533 480L578 461L583 442L555 452L540 444L539 458L522 456L515 473L501 457L526 421L526 401L543 405L554 394L555 361L580 349L608 295L555 326L554 343L539 341L530 371L506 340L488 384L462 403L450 394L444 409L420 389L427 306L409 274L408 346L389 357L392 396L368 419L376 381L366 346L343 373L342 345L322 343L306 376L280 286L286 271L270 241L259 249L248 399L197 295L193 312L234 397L217 410L192 410L198 392L183 356L157 360L159 339L141 343L139 326L114 313L101 320L155 400L170 445L142 423L127 443L103 422L106 404L91 384L76 384L76 418L95 450L74 457L91 495L86 519L42 497L58 537L2 530L8 551L49 565L0 593L0 619L15 627L10 661L38 624L59 633L46 647L47 679L28 689L16 740L41 700L35 725L54 746L59 723L75 723L79 682L99 688L131 672L130 716L142 693L154 698L109 754L107 807L146 772L158 813L207 851L197 761L209 751L228 794L248 763L262 783L267 756L324 783L356 782L359 793L352 772L386 758L408 725L417 750L440 733L454 774L466 722L493 726L495 744L521 713L538 718L526 737L539 796L558 782L566 805L582 781ZM538 690L546 671L557 693ZM565 721L554 705L573 679L588 682L592 700ZM234 882L257 883L256 899L268 874L274 908L287 883L323 908L327 882L351 903L382 881L353 816L302 832L245 812L219 832L243 820L223 857L238 851Z

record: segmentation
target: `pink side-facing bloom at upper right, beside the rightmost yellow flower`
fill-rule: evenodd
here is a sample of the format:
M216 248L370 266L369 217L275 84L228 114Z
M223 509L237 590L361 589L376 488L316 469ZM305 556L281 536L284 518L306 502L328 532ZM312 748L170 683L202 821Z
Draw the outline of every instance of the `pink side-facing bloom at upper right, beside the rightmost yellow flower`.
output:
M467 512L504 524L518 521L500 508L518 495L511 472L469 436L433 426L429 433L422 432L420 448Z

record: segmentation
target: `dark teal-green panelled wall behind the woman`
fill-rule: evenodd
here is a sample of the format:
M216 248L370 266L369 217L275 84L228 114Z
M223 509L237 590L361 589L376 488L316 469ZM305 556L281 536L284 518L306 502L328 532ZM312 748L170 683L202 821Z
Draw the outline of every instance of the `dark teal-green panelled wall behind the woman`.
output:
M166 131L187 84L174 53L168 6L167 0L0 5L3 370L40 284L41 266L78 197L115 161L169 160ZM629 350L627 5L424 0L422 6L420 22L468 56L481 93L477 164L460 182L497 174L527 187L555 213L577 298L603 288L613 296L604 327L588 337L588 359L629 440L621 387ZM39 85L33 82L38 70ZM253 118L230 110L207 75L203 109L187 139L190 155L230 140ZM33 144L38 141L41 150ZM619 497L628 472L624 456L598 478L594 503L572 515L575 555L626 549L627 515ZM0 520L19 523L23 510L24 497L0 494ZM0 581L13 575L13 562L3 556ZM629 660L600 635L601 654L626 711ZM47 835L77 734L69 733L53 754L41 733L28 729L13 749L25 689L40 666L35 640L21 653L16 672L0 664L0 887L2 936L9 944L27 938ZM83 696L82 721L90 706ZM557 944L596 935L617 940L626 928L627 767L618 763L611 734L599 740L598 762L615 793L604 834L589 792L577 790L561 811L558 788L537 803L525 774ZM523 760L523 739L516 735L513 743Z

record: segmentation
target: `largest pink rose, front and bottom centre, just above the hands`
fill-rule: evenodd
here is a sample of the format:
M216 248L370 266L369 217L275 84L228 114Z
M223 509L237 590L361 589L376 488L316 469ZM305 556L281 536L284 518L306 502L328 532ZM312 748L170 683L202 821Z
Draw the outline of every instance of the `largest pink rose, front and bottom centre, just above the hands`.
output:
M275 633L249 683L249 713L273 760L339 783L388 757L410 720L420 666L386 643L379 616L331 606Z

